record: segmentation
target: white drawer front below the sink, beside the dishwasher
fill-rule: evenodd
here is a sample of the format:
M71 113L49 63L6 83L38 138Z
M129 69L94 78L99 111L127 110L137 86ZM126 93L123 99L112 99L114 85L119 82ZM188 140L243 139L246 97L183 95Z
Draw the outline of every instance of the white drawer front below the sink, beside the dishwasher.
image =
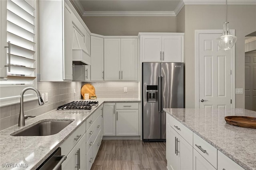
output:
M83 123L80 127L78 127L78 129L76 129L76 131L74 131L74 133L72 133L70 137L68 137L68 139L66 139L66 141L62 143L61 145L62 155L67 155L70 152L70 150L76 145L76 143L78 143L78 141L82 138L82 136L85 133L84 129L85 129L85 123Z

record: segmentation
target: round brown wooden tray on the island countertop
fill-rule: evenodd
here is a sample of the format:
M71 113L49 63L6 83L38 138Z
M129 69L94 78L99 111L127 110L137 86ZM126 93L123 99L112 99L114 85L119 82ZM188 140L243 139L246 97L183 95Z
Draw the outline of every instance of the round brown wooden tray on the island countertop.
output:
M234 126L256 128L256 117L226 116L225 121Z

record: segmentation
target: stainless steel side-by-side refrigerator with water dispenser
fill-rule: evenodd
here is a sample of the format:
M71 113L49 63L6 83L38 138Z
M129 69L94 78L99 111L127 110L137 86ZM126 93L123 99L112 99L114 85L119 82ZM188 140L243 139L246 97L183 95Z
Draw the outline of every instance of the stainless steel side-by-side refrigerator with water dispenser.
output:
M184 108L184 64L142 63L143 141L166 140L163 108Z

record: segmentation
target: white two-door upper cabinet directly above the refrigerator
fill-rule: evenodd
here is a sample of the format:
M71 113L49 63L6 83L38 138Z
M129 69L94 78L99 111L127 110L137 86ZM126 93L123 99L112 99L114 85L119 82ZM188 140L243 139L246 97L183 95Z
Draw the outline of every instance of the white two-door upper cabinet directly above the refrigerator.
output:
M139 33L142 62L183 62L184 33Z

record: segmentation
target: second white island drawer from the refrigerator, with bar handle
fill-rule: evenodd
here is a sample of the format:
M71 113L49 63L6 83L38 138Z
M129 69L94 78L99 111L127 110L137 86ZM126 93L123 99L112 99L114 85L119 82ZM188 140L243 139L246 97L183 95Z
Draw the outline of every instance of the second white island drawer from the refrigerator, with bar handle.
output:
M217 149L194 133L193 148L217 168ZM197 145L197 146L196 146Z

